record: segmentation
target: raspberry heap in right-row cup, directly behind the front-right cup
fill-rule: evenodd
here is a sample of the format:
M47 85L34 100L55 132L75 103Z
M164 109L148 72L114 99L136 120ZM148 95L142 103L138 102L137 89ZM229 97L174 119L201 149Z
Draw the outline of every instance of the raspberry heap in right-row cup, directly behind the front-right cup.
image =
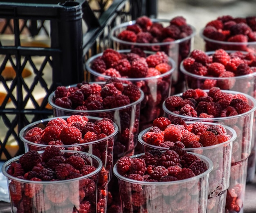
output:
M182 122L180 122L182 123ZM166 117L153 121L153 126L141 136L141 139L153 146L169 148L199 148L213 146L231 139L222 125L209 126L203 122L191 124L172 124Z

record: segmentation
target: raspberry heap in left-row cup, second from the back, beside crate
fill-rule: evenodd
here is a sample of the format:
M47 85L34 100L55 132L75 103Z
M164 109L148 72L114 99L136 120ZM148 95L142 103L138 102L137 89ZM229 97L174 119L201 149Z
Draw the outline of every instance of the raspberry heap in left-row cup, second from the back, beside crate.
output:
M92 61L90 68L111 77L149 78L170 71L172 65L164 52L146 55L139 48L132 48L128 53L109 48Z

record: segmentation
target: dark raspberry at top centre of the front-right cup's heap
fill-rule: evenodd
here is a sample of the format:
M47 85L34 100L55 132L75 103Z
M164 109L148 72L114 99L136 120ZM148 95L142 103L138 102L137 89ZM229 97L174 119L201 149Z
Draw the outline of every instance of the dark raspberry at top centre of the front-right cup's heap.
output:
M174 150L166 150L160 155L158 165L168 168L169 166L180 165L180 156Z

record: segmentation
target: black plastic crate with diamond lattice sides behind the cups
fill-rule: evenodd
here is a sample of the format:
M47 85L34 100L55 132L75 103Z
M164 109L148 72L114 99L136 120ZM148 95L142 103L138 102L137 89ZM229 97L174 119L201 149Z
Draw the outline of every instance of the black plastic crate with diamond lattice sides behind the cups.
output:
M52 116L49 94L58 85L86 80L85 61L112 47L108 38L112 27L148 15L144 7L150 1L114 0L99 10L92 10L91 2L0 2L1 160L25 152L18 133L28 123ZM11 73L14 76L8 76Z

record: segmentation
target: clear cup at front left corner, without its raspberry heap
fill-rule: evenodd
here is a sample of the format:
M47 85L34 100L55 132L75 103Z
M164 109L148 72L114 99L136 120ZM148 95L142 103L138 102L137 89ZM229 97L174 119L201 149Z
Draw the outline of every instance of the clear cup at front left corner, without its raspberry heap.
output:
M61 152L70 155L78 151ZM22 155L6 161L2 166L2 173L9 186L11 212L78 212L82 211L83 204L90 207L90 212L96 212L98 179L103 165L95 155L80 153L88 157L88 164L96 167L96 170L88 175L58 181L31 181L13 177L7 173L7 169L12 163L18 163ZM87 182L90 182L90 186L85 184Z

